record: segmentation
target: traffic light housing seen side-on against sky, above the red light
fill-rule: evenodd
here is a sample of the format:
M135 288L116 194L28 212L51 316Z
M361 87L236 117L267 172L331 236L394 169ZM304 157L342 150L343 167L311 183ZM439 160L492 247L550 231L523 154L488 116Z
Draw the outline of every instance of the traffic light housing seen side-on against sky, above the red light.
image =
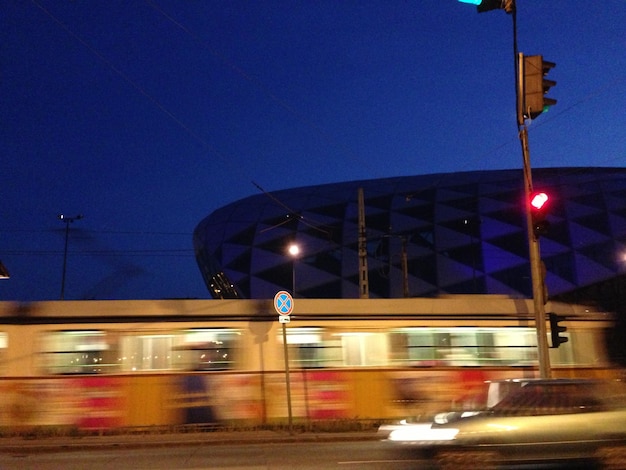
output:
M553 62L543 60L540 55L524 56L524 108L522 113L526 119L535 119L550 106L556 104L556 100L548 98L546 93L556 85L553 80L548 80L546 75L556 67Z

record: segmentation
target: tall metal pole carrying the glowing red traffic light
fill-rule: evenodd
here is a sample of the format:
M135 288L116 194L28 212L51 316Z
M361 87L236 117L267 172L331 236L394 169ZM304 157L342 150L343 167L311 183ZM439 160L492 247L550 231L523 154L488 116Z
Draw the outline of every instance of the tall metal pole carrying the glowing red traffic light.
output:
M545 290L541 269L539 240L533 230L530 198L533 193L532 172L530 169L530 151L528 148L528 129L523 115L523 82L524 55L517 56L517 124L524 159L524 200L526 209L526 228L528 231L528 251L530 258L530 275L533 285L533 303L535 308L535 328L537 330L537 352L539 356L539 373L541 378L551 376L550 355L548 353L548 331L546 328Z

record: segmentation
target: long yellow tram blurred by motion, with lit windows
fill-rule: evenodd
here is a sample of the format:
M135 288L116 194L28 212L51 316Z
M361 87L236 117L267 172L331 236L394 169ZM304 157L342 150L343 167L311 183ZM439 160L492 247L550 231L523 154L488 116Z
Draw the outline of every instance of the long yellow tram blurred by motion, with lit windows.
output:
M288 399L301 422L387 420L426 416L484 380L538 375L531 300L294 306L281 324L271 300L0 302L0 426L262 425L284 422ZM610 314L546 307L567 327L550 349L554 376L617 373Z

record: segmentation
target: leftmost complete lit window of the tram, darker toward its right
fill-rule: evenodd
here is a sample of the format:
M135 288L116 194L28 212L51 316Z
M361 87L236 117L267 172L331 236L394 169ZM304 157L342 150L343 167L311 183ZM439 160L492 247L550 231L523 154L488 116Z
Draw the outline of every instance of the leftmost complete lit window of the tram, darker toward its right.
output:
M99 330L53 331L41 339L46 374L103 374L118 370L117 348Z

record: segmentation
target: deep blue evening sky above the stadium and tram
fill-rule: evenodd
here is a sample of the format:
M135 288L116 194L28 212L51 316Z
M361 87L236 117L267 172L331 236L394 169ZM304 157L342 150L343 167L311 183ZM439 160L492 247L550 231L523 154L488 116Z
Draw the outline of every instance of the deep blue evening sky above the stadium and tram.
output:
M535 167L626 165L626 1L518 0ZM456 0L7 0L2 300L208 298L192 232L267 191L521 168L512 17Z

